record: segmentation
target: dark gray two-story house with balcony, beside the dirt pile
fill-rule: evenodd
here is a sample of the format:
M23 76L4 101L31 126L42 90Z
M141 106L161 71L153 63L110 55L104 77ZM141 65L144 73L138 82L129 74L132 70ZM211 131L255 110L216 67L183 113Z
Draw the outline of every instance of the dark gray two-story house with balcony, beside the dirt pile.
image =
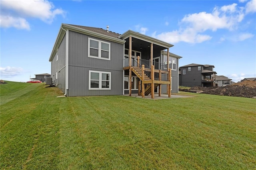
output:
M212 87L215 86L214 65L188 64L181 66L179 72L179 85L194 87Z

